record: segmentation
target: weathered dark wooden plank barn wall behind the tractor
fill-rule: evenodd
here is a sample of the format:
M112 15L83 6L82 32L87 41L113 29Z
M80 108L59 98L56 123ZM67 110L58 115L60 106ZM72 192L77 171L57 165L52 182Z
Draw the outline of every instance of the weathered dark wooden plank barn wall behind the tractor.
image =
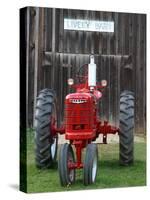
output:
M63 120L64 97L69 92L67 79L75 78L79 67L89 63L89 55L94 54L97 79L108 81L100 101L101 118L118 125L120 91L130 89L135 93L135 131L145 133L146 15L52 8L27 10L29 126L33 123L34 97L45 87L56 90ZM114 21L114 33L64 30L64 18Z

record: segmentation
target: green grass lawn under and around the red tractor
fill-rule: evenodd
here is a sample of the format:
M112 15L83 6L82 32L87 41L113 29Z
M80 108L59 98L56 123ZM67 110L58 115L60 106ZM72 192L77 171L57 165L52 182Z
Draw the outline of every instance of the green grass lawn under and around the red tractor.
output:
M118 144L99 145L99 163L96 183L84 186L82 170L76 174L75 184L61 187L57 164L53 169L39 170L35 167L33 132L27 134L27 191L56 192L99 188L146 185L146 144L135 144L135 163L122 167L118 164Z

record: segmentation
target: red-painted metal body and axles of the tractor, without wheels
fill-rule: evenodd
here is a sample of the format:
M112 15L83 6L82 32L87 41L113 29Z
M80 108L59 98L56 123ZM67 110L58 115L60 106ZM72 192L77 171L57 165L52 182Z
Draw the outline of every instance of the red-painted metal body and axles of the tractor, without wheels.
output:
M119 129L111 126L107 121L99 119L97 103L102 97L104 88L97 83L91 92L87 77L85 83L76 84L73 87L76 92L68 94L65 99L65 116L62 127L55 127L53 120L51 130L53 135L65 134L65 139L70 141L76 149L76 162L68 161L68 169L83 168L82 150L89 143L96 140L99 134L103 134L103 144L107 144L107 134L116 134Z

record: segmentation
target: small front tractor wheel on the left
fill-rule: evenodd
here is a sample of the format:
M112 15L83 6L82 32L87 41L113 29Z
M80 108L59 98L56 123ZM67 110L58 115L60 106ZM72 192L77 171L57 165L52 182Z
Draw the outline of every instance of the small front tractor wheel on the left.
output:
M74 153L70 144L63 144L60 148L58 159L58 171L62 186L69 186L75 181L75 169L69 169L69 165L75 163Z

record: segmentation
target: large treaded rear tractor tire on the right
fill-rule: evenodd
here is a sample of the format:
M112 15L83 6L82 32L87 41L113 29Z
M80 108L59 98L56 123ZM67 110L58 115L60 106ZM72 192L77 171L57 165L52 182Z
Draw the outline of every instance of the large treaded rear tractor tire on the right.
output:
M133 163L134 150L134 96L133 92L124 91L120 95L120 164L127 166Z

